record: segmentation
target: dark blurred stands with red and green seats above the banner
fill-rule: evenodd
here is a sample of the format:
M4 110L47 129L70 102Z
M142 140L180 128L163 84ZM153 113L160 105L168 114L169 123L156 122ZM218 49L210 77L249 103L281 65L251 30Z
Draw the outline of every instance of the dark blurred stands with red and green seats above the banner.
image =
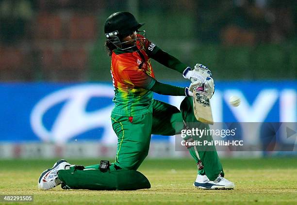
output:
M295 0L0 0L0 81L111 81L103 25L117 11L215 80L296 79ZM183 80L152 62L157 79Z

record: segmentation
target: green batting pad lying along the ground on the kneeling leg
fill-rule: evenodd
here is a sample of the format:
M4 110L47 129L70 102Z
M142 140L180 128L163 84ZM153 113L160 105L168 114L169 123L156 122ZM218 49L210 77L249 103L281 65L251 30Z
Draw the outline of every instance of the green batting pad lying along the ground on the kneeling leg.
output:
M145 175L134 170L101 172L97 169L60 170L59 179L70 189L90 190L136 190L149 189L150 183Z

